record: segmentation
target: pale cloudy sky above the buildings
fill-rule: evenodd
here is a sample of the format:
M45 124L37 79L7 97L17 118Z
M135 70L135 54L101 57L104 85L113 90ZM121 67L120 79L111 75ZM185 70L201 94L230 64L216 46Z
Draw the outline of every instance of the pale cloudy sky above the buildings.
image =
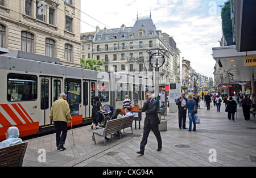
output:
M138 16L149 16L156 29L174 37L181 57L197 73L213 77L212 48L220 46L221 7L227 0L81 0L81 32L133 27ZM84 13L86 14L84 14ZM92 18L90 18L89 16ZM93 19L94 18L94 19Z

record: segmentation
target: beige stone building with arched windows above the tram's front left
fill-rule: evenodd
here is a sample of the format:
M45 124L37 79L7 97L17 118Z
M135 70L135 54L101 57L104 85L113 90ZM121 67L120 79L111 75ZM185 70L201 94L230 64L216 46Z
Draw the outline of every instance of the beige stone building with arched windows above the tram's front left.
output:
M1 47L80 66L80 0L0 1Z

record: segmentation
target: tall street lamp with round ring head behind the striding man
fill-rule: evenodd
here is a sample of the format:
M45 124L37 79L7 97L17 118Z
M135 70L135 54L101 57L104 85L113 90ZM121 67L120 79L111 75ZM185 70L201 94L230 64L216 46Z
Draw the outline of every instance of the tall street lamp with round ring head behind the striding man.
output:
M152 52L151 50L147 50L147 53L150 55L150 65L155 68L155 96L156 101L158 101L158 111L159 111L159 68L164 65L166 59L164 56L168 50L158 49L156 52Z

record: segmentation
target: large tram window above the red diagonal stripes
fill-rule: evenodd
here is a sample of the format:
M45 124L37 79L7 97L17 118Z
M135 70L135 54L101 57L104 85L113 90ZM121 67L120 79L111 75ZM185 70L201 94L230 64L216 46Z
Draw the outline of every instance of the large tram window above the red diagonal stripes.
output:
M7 75L7 100L29 101L36 100L37 94L36 75L8 74Z

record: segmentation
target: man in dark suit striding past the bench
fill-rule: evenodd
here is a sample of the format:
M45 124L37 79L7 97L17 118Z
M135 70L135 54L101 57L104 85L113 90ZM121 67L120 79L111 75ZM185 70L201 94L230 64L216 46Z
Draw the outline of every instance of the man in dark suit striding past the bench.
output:
M150 92L146 92L146 99L142 108L142 112L146 112L146 117L144 120L141 150L137 151L138 154L144 155L145 146L147 144L147 137L150 134L151 129L158 141L157 151L162 150L162 138L158 128L160 121L158 118L157 109L158 109L158 102L156 102L156 100L152 98L152 94Z

